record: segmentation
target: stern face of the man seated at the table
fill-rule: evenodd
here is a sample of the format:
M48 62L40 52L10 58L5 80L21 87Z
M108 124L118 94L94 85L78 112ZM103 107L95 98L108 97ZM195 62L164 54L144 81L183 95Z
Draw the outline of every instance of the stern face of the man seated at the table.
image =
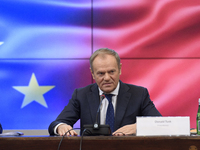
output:
M99 88L104 93L112 92L119 82L121 75L120 69L117 65L117 60L112 55L97 56L93 61L93 72L91 70L93 79L96 81Z

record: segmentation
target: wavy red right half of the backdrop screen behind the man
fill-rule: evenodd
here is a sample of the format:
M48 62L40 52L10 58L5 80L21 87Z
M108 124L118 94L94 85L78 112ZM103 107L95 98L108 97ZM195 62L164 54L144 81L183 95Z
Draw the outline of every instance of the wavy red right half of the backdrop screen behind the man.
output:
M121 80L147 87L163 116L190 116L196 128L200 1L95 1L93 20L94 49L119 53Z

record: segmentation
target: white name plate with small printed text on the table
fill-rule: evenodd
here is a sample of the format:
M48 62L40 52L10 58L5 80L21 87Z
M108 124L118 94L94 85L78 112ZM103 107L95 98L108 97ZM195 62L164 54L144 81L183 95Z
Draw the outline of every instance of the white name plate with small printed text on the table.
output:
M190 135L190 117L137 117L137 136Z

